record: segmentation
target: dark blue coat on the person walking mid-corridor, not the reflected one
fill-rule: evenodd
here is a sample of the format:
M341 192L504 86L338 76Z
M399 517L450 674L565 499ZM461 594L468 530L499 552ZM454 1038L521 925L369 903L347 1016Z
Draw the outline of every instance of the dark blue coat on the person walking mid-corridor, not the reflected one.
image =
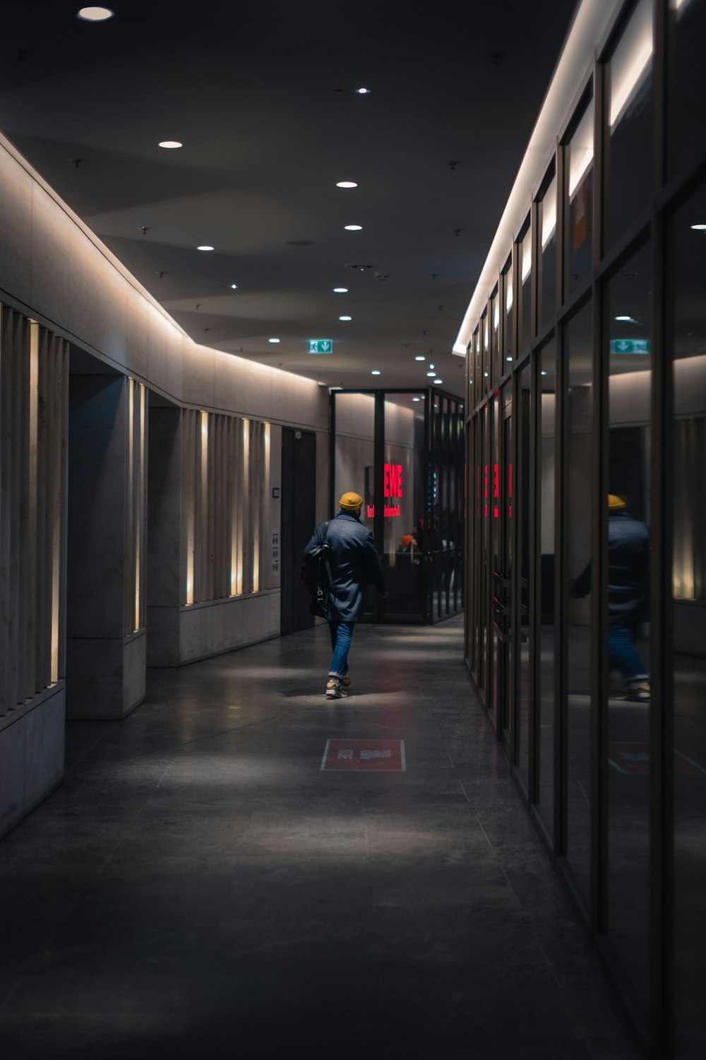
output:
M325 526L325 523L316 526L304 550L305 555L319 544ZM378 593L387 591L373 534L355 515L339 512L328 524L326 538L332 551L334 588L334 600L329 599L326 618L334 622L359 622L363 617L368 582L373 582Z

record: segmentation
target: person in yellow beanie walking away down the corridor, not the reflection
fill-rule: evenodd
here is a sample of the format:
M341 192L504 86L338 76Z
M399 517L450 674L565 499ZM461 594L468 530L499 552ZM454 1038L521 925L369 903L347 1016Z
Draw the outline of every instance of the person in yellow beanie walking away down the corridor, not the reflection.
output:
M365 590L373 582L381 597L387 596L385 576L373 542L373 534L360 522L363 498L358 493L344 493L339 500L336 518L319 523L305 556L324 540L330 545L330 568L333 584L326 603L326 618L331 633L333 655L328 669L326 697L340 700L350 691L348 652L354 625L365 606Z

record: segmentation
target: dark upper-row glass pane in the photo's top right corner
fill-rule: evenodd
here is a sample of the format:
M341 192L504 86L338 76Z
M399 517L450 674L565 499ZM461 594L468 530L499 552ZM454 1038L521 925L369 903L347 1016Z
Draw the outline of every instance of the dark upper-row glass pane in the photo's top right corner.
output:
M670 6L674 98L667 135L673 137L669 155L674 170L703 155L706 142L706 0L671 0Z

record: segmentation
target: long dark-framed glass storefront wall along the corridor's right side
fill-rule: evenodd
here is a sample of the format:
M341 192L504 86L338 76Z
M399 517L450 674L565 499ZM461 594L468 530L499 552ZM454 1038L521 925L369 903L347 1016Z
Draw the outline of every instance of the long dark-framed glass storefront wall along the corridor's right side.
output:
M706 101L681 61L704 34L706 0L623 6L467 354L469 668L675 1060L706 1055Z

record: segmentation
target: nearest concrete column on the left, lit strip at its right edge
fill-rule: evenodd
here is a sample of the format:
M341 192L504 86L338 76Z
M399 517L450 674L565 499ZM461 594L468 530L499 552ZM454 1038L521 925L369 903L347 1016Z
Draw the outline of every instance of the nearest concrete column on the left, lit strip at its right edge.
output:
M144 387L72 375L67 716L124 718L145 694Z

